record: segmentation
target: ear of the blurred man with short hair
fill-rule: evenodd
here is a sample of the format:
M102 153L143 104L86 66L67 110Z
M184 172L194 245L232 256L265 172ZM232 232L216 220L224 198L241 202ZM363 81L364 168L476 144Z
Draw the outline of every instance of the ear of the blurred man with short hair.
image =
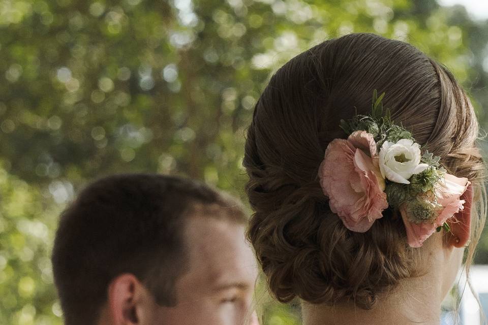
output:
M108 307L113 325L146 324L154 306L153 297L133 274L121 274L110 282Z

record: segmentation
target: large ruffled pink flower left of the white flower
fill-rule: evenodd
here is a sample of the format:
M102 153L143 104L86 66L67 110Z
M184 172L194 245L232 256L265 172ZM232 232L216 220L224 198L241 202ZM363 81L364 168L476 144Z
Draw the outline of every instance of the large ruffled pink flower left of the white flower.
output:
M347 229L366 232L383 216L388 207L385 180L371 134L356 131L347 140L330 142L318 174L330 210L339 215Z

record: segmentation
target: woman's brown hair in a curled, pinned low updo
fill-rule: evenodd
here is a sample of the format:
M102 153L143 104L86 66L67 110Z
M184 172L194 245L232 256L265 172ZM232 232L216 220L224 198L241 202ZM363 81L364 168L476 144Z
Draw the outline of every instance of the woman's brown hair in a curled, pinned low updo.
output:
M325 41L297 55L261 94L243 161L255 211L248 238L281 302L353 301L369 309L417 274L420 249L408 246L401 218L387 209L368 232L351 232L330 211L317 177L328 143L346 138L340 120L369 114L374 89L386 93L392 120L440 156L448 173L467 177L482 201L478 123L446 68L409 44L373 34ZM482 222L474 217L473 228ZM473 242L478 237L479 231Z

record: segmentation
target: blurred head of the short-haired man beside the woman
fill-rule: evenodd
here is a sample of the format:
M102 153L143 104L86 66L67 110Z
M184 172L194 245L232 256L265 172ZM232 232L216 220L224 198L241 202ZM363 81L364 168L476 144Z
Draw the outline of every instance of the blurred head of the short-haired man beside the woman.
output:
M54 242L67 325L238 323L256 276L246 222L236 200L191 180L93 183L62 214Z

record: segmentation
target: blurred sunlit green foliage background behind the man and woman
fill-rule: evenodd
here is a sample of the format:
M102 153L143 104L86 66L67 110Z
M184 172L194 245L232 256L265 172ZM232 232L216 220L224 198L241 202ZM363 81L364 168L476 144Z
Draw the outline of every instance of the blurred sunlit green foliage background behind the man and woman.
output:
M270 74L324 39L355 31L410 42L443 62L486 129L488 22L463 6L0 0L0 323L62 323L53 233L59 212L89 180L186 175L245 201L245 132ZM476 263L488 264L488 234ZM293 304L264 306L265 324L299 324Z

